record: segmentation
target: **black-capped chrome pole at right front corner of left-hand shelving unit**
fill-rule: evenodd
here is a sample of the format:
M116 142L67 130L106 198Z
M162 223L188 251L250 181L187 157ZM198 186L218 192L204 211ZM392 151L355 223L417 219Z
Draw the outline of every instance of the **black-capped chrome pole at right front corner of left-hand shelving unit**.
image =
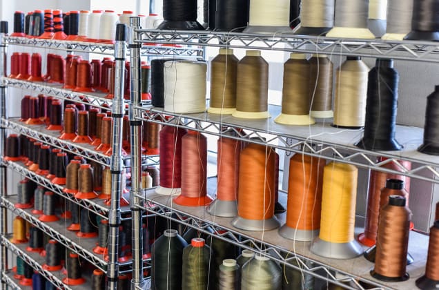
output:
M117 251L119 246L120 197L122 192L122 118L124 117L124 82L125 82L125 57L126 57L126 26L117 24L115 42L115 97L111 108L113 117L113 136L111 154L111 205L108 215L108 226L110 227L108 242L108 289L117 289L117 277L119 276L119 263Z

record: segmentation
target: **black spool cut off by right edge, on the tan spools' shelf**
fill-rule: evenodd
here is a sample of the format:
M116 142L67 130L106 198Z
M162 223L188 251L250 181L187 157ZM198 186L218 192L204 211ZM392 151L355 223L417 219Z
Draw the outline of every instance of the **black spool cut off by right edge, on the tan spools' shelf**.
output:
M427 97L424 140L418 148L419 152L439 155L439 126L436 124L437 112L439 112L439 86L436 86L434 92Z

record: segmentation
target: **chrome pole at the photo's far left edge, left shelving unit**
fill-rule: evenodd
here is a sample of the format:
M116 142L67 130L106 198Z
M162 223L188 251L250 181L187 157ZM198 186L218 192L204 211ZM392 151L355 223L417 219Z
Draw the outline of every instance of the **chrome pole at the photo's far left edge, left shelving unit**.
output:
M8 22L1 21L0 23L0 77L6 76L6 43L3 43L3 37L8 33ZM6 118L6 86L3 81L0 83L0 117ZM5 154L5 142L6 142L6 129L3 126L0 127L0 156ZM6 185L6 166L0 165L0 191L1 196L7 194ZM8 210L6 207L1 206L0 215L1 234L5 234L8 231ZM8 251L6 246L1 246L1 267L2 269L8 269Z

